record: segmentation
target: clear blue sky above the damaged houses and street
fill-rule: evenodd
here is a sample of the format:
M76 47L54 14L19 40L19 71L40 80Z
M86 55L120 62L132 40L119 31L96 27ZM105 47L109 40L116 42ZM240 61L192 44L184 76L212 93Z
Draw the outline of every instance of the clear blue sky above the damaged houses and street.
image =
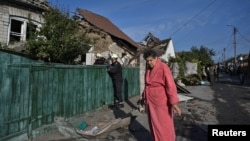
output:
M213 49L215 62L250 52L250 0L48 1L71 12L81 8L102 15L135 42L151 32L161 40L171 38L175 52Z

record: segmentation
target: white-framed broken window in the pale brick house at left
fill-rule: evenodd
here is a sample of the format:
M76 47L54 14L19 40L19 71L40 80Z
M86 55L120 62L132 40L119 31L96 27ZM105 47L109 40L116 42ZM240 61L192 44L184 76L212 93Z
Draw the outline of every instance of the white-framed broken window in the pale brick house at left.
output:
M9 43L26 41L38 27L37 22L29 22L24 18L10 18Z

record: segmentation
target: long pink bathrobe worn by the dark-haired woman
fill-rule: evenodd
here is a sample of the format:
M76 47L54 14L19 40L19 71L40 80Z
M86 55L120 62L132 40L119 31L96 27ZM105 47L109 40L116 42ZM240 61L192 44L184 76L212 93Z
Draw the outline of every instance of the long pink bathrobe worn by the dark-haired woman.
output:
M177 88L169 67L157 59L153 69L145 73L143 97L148 108L149 126L154 141L175 141L173 108L179 102Z

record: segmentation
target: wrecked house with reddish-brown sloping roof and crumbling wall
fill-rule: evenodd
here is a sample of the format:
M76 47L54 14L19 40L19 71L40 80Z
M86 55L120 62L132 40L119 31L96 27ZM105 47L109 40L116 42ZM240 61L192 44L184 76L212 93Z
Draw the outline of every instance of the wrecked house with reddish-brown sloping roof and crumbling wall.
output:
M109 19L85 9L77 9L81 17L80 26L87 37L94 41L86 55L86 65L92 65L97 53L108 59L111 54L118 55L118 61L125 66L135 66L137 59L130 61L140 45L134 42Z

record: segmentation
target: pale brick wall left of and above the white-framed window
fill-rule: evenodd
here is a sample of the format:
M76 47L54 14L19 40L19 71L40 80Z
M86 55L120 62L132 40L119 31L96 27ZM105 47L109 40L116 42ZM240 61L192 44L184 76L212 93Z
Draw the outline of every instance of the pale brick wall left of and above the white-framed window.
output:
M19 5L11 5L8 3L0 2L0 42L8 44L10 18L17 17L28 19L30 18L38 23L42 22L41 12L25 9Z

